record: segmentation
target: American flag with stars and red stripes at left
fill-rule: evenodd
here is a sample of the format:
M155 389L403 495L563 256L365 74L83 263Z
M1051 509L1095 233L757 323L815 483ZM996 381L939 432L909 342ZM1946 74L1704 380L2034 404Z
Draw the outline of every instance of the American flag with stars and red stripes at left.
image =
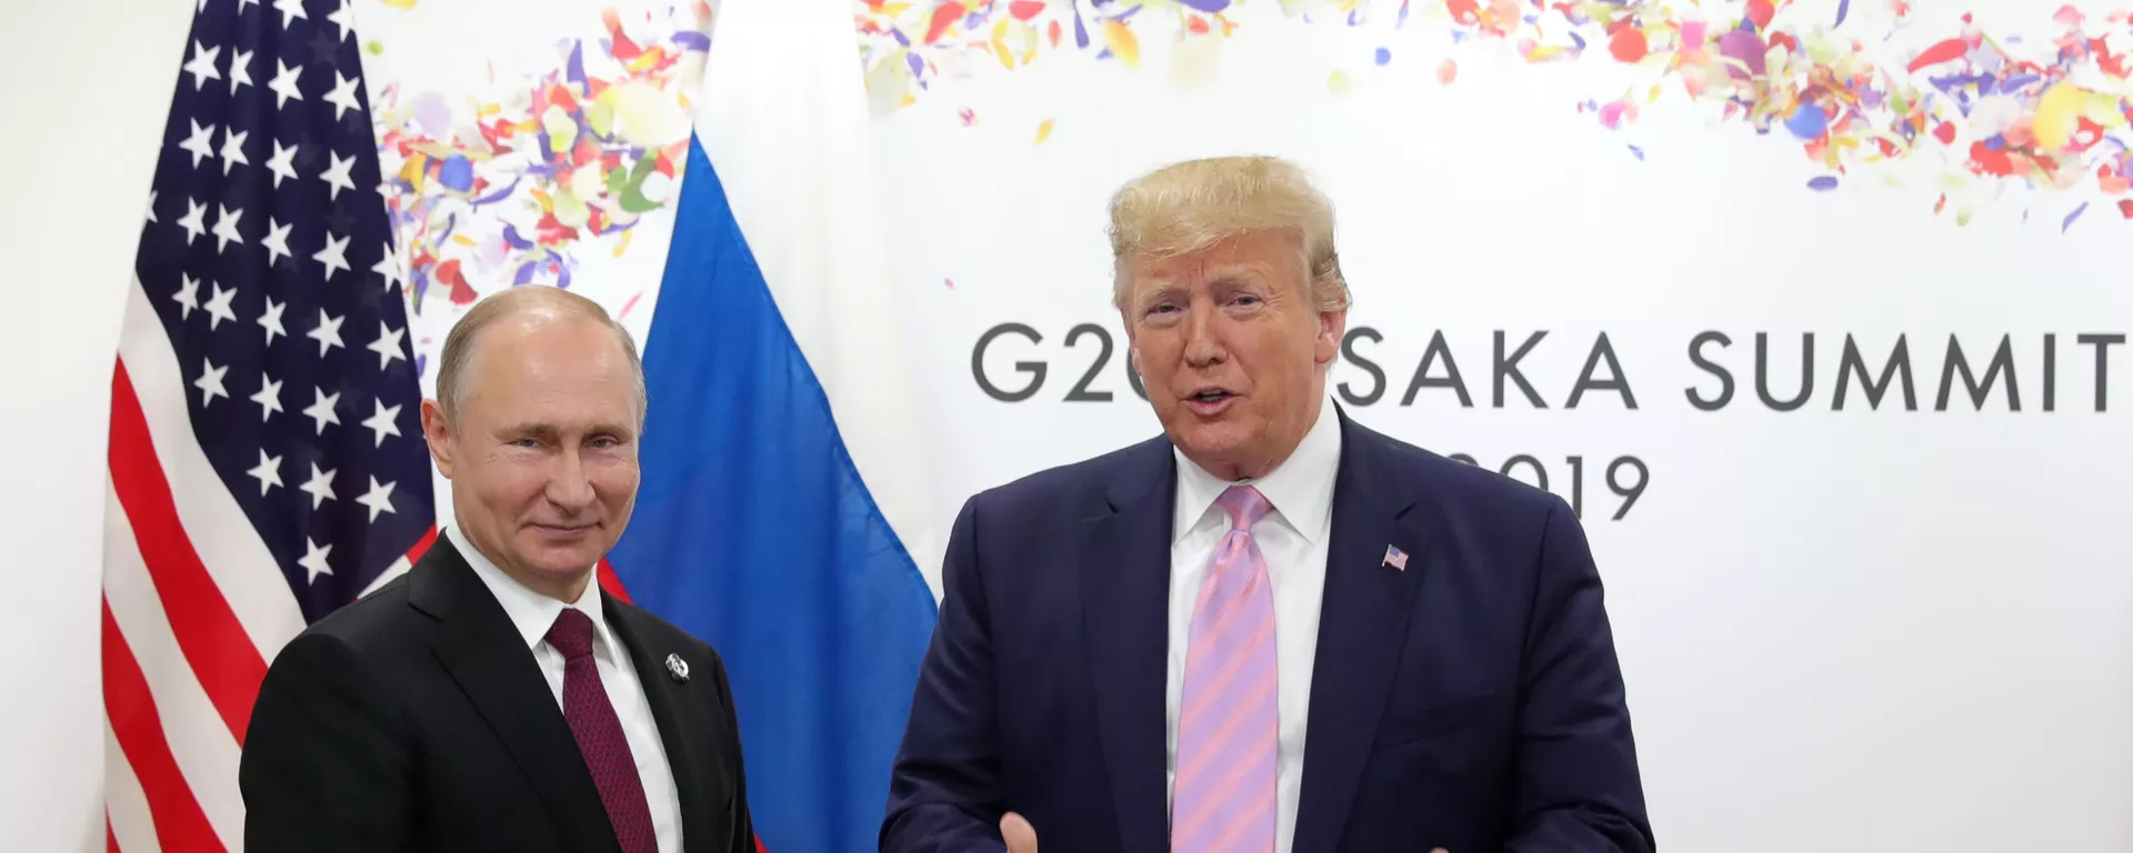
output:
M241 849L267 663L435 540L378 179L346 0L196 0L111 377L111 849Z

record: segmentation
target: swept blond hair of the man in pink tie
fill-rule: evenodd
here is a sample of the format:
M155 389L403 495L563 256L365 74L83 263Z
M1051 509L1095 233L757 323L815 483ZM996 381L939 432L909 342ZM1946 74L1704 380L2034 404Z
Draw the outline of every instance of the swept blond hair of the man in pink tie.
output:
M1205 158L1141 175L1111 196L1111 305L1124 309L1133 260L1177 256L1254 230L1303 237L1303 271L1320 311L1350 305L1333 252L1333 203L1297 164L1269 158Z

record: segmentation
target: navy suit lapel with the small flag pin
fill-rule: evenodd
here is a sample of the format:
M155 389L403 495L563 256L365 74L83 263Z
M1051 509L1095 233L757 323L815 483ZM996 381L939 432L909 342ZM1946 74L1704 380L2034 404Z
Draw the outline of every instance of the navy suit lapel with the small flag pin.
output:
M1342 414L1295 853L1325 853L1340 842L1393 687L1414 591L1427 574L1429 542L1418 525L1401 522L1412 493L1384 480L1384 441ZM1386 546L1408 552L1404 572L1384 565Z

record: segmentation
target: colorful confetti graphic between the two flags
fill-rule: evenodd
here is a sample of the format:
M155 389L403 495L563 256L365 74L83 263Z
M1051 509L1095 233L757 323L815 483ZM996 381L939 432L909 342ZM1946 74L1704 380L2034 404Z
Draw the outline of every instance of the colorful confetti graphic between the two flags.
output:
M467 305L499 286L567 288L580 252L621 256L674 198L710 9L631 21L608 9L602 23L604 38L565 38L555 68L488 94L380 94L384 192L418 311L431 290Z

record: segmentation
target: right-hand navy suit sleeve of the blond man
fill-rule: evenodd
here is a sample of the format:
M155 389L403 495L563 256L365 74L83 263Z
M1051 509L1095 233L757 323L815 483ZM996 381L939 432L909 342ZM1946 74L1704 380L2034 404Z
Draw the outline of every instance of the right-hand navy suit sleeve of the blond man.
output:
M1559 497L1549 505L1527 625L1519 832L1508 849L1653 851L1600 572Z

